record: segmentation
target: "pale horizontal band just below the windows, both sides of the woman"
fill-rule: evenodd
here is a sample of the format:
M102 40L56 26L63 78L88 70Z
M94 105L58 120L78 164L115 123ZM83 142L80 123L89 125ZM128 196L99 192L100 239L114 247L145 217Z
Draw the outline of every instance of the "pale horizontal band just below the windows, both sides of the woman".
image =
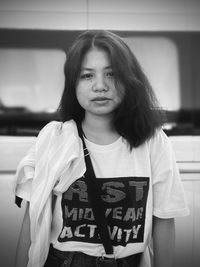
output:
M200 174L200 136L170 136L181 173ZM35 136L0 136L0 172L14 172Z

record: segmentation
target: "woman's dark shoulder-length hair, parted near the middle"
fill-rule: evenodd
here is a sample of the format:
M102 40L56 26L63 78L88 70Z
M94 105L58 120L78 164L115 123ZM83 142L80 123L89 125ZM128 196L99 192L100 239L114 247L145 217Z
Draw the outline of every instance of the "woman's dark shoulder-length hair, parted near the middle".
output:
M126 43L116 34L90 30L75 40L65 63L65 87L59 106L61 120L81 123L85 112L76 98L76 83L85 54L92 47L107 52L114 71L115 83L122 84L125 95L116 109L113 123L130 144L137 147L150 138L163 123L163 111L142 68Z

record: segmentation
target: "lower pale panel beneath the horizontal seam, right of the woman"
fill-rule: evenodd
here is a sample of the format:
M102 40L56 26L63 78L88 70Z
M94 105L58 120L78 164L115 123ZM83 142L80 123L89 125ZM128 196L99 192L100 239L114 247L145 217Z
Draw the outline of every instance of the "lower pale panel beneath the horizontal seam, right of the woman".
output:
M199 267L200 264L200 173L182 174L190 215L176 218L174 267Z

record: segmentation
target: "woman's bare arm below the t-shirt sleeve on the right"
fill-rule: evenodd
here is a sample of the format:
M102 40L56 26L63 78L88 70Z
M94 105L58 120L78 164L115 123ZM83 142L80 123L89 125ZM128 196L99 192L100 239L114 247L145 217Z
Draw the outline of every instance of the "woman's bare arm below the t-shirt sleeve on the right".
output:
M175 248L174 219L153 218L153 267L172 267Z

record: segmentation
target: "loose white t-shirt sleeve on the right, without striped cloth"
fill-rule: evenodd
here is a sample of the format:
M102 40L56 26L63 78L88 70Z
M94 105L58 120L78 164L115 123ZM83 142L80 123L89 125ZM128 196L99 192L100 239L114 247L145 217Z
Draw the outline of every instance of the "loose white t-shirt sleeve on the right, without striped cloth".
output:
M160 130L150 141L153 215L187 216L189 208L170 139Z

